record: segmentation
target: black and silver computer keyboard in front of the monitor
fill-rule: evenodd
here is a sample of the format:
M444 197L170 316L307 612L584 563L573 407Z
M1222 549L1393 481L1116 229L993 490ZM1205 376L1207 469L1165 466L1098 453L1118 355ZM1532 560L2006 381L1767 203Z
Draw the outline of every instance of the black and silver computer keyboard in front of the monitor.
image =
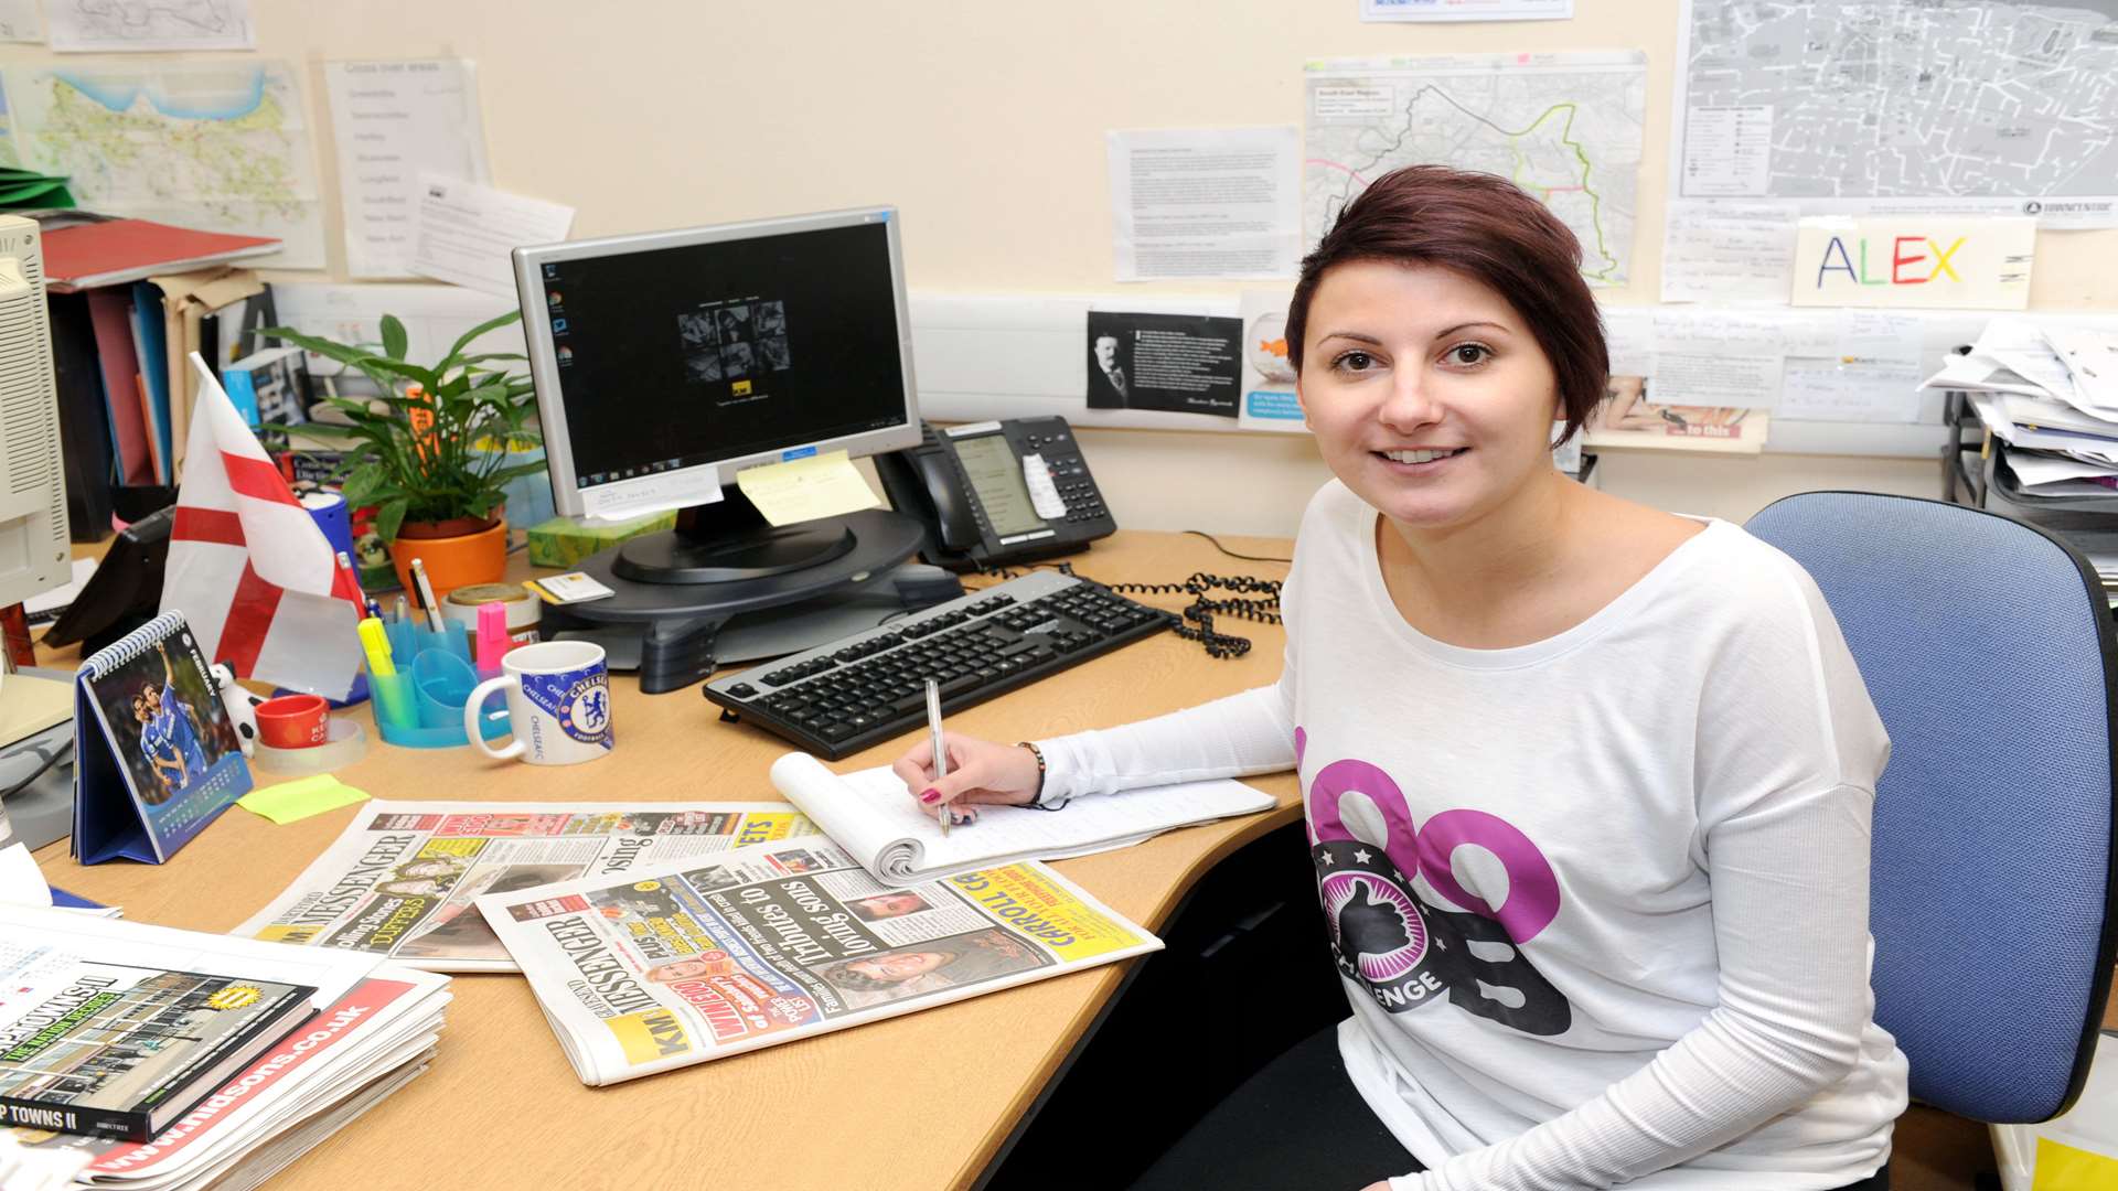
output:
M705 685L705 697L832 761L926 727L926 680L945 712L983 704L1178 623L1108 587L1034 570L883 627Z

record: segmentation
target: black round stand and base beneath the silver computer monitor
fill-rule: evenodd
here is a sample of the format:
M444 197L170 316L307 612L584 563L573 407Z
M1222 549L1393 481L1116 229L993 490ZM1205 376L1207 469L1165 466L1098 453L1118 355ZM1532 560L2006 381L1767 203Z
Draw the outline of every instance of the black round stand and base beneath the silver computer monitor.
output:
M616 596L546 608L542 636L638 638L640 689L678 691L724 661L718 638L735 619L773 621L769 634L752 636L786 644L784 653L845 636L851 629L837 625L843 617L830 617L832 608L881 598L926 540L919 521L883 509L773 528L737 492L720 504L686 509L676 530L580 559L576 568ZM813 604L813 623L796 604Z

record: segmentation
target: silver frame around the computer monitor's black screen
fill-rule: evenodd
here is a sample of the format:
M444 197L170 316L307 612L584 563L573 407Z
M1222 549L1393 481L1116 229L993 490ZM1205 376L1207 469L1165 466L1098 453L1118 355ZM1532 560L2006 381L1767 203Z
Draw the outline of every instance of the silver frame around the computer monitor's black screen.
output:
M665 248L690 248L697 244L720 244L726 239L754 239L762 235L790 235L803 231L828 231L837 227L862 227L870 223L881 223L885 239L890 242L890 284L896 290L896 318L898 318L898 360L904 373L904 424L885 426L881 430L862 430L858 434L841 434L834 439L815 439L803 443L786 443L767 451L752 451L746 456L731 456L724 460L710 460L695 464L676 473L659 473L654 481L682 483L684 479L703 479L699 473L703 468L718 468L716 479L722 485L735 483L735 473L746 466L775 464L788 458L788 451L815 447L818 451L845 449L851 458L875 456L883 451L900 451L919 443L919 386L913 379L913 320L911 305L904 299L904 242L900 235L900 220L896 208L849 208L837 212L815 212L798 216L779 218L756 218L743 223L722 223L712 227L688 227L676 231L640 231L627 235L604 235L597 239L572 239L566 244L540 244L532 248L517 248L510 252L515 261L515 292L521 301L523 312L523 339L530 343L530 379L536 384L538 398L538 422L544 428L544 466L551 473L551 498L553 506L566 517L585 515L585 504L580 498L580 485L576 483L574 470L574 441L568 437L566 428L566 398L559 386L559 354L551 337L551 316L546 314L544 297L544 265L563 261L582 261L597 256L623 256L631 252L657 252ZM549 396L549 401L546 401ZM646 481L646 477L642 477ZM625 483L616 481L610 485L597 485L599 490L618 490Z

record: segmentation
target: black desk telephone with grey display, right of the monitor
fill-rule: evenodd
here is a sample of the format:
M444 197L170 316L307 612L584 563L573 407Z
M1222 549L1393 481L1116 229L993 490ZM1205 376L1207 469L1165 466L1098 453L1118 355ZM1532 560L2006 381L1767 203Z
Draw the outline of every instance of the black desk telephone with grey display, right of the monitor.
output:
M1074 553L1118 530L1065 417L919 428L919 445L877 456L875 473L898 513L926 521L928 562L1004 566Z

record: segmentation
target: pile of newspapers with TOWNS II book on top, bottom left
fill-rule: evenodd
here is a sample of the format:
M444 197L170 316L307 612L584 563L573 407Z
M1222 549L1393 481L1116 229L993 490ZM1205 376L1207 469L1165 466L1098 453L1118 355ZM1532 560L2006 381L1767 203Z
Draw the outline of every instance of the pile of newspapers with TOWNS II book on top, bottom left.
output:
M201 981L212 996L193 996ZM167 1085L189 1102L146 1142L0 1127L8 1189L256 1187L424 1072L449 1005L449 977L371 954L13 905L0 905L0 1074L15 1072L13 1100L64 1106ZM199 1021L265 985L316 990L290 1032L218 1085L182 1085L163 1070L169 1038L210 1032Z

